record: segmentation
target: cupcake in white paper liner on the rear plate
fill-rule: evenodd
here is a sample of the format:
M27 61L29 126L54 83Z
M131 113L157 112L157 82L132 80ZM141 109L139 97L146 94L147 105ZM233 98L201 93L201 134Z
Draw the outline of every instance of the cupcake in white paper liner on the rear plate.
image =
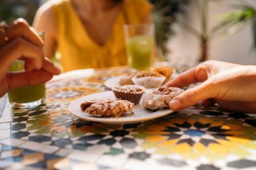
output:
M141 85L146 89L158 88L164 83L166 77L155 71L141 71L131 80L135 85Z

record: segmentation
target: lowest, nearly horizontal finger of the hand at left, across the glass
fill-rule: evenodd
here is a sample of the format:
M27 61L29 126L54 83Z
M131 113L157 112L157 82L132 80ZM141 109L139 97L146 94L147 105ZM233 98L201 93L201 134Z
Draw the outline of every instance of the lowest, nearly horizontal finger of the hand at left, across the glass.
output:
M24 85L36 85L38 83L44 83L51 80L52 78L53 75L51 73L42 70L35 70L19 74L8 73L6 76L6 81L10 90L22 87Z

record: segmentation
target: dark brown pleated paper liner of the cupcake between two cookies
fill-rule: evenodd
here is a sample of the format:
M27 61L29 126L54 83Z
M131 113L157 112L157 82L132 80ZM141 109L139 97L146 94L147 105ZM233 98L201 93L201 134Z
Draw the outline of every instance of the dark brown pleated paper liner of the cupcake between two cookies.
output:
M113 90L113 92L117 99L125 99L128 101L131 101L135 105L139 103L139 101L143 95L143 91L141 91L139 93L127 93L127 92L123 92L123 91Z

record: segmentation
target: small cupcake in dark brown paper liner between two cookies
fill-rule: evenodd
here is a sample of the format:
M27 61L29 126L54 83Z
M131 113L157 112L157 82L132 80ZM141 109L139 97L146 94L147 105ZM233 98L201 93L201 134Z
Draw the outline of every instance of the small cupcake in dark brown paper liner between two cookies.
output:
M115 86L112 90L117 99L131 101L135 105L139 103L142 95L146 93L146 89L140 85Z

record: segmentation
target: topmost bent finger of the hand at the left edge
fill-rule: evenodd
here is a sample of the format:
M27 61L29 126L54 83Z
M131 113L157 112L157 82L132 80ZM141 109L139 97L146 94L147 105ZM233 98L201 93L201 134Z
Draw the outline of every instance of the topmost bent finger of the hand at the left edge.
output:
M36 30L34 28L30 27L28 23L22 19L16 19L13 24L11 24L7 29L6 29L6 36L9 38L9 42L11 40L14 40L15 38L24 38L28 42L31 42L35 46L38 46L42 48L43 42L42 39L38 36L36 33ZM0 34L0 46L3 46L5 44L5 40L3 39L4 35L1 33Z

